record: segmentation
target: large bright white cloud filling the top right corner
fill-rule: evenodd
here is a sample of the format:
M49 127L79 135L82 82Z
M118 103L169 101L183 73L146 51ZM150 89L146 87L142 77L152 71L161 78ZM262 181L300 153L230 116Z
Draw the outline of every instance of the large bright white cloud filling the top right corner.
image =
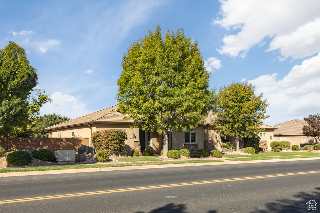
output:
M302 58L320 51L320 1L229 0L220 1L220 17L213 20L232 32L223 38L220 54L245 57L254 45L271 39L267 51ZM240 30L240 31L239 31Z

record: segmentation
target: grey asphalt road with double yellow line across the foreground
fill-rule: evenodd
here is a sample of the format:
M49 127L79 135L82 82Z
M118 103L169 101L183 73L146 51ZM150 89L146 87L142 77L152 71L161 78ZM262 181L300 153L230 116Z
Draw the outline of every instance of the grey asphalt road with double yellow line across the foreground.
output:
M315 212L319 181L320 160L2 177L0 212Z

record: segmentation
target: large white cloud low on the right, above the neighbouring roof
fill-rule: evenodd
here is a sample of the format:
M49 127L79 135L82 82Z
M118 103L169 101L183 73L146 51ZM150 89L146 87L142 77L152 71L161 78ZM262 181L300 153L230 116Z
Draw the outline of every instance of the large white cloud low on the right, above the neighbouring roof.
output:
M276 125L291 119L303 119L320 111L320 52L317 56L295 65L282 80L277 73L262 75L249 80L256 93L263 92L270 104L268 125Z

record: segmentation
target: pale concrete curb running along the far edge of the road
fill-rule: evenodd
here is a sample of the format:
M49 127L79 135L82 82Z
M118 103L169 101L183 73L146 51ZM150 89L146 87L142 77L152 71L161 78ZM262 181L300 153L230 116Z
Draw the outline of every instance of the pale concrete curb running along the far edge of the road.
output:
M203 159L202 159L203 160ZM118 170L133 170L133 169L155 169L155 168L171 168L184 166L205 166L205 165L226 165L226 164L253 164L253 163L270 163L270 162L286 162L286 161L305 161L305 160L320 160L319 157L310 158L292 158L292 159L271 159L271 160L256 160L256 161L228 161L221 159L223 162L211 163L191 163L191 164L167 164L167 165L146 165L146 166L124 166L124 167L105 167L91 169L65 169L65 170L48 170L48 171L23 171L23 172L8 172L0 173L0 177L26 176L26 175L49 175L49 174L65 174L77 172L93 172L93 171L118 171ZM124 163L124 162L119 162ZM131 163L131 162L125 162ZM87 164L90 165L90 164Z

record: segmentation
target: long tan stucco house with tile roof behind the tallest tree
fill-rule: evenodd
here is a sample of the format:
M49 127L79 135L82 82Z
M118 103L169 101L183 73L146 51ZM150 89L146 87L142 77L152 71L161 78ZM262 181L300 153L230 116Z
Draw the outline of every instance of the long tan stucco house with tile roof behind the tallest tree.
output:
M123 120L126 116L118 110L118 105L108 107L103 110L93 112L91 114L75 118L58 125L45 128L49 133L48 137L64 138L89 138L89 144L92 146L91 134L95 131L104 129L120 129L127 132L128 139L126 140L126 148L124 154L131 155L131 150L150 149L153 154L159 154L162 147L162 135L157 132L144 132L139 128L132 128L133 120ZM212 124L215 116L212 112L204 120L203 124L191 131L174 131L168 134L169 148L182 149L187 148L191 153L196 154L200 148L218 149L221 150L221 144L226 143L231 147L236 145L234 136L220 136ZM266 130L261 132L261 141L269 141L269 135L273 137L273 126L263 125ZM266 137L266 138L264 138ZM266 140L264 140L266 139ZM270 149L269 149L270 150Z

